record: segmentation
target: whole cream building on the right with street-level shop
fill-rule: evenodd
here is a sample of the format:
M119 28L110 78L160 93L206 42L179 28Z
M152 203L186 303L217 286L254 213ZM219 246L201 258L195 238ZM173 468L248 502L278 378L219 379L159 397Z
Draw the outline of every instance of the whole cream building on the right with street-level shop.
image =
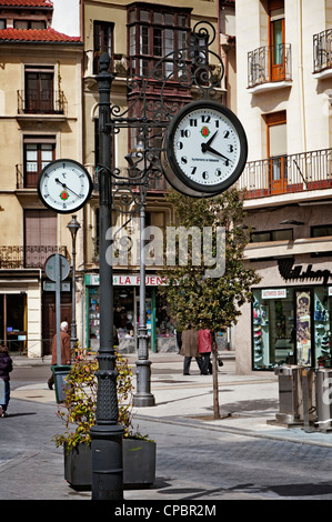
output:
M235 19L245 254L262 277L234 328L237 371L316 367L332 331L332 2L247 0Z

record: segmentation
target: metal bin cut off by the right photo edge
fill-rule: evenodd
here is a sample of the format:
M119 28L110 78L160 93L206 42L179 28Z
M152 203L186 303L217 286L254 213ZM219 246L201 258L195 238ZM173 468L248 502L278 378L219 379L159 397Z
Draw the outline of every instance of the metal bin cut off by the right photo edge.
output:
M315 377L316 424L322 431L332 430L332 370L319 368Z

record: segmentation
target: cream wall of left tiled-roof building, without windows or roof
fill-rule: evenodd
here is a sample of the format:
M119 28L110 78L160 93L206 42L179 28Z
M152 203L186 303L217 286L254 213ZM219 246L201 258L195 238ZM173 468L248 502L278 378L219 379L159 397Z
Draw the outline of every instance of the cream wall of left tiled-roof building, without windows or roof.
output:
M16 165L23 164L23 135L56 135L56 158L71 158L82 162L82 48L68 46L1 44L0 84L0 230L1 245L23 245L23 209L43 209L33 189L17 192ZM54 90L62 90L67 99L62 116L18 114L18 90L24 89L24 66L54 67ZM61 82L58 82L59 76ZM77 271L83 265L83 211L77 212L81 230L77 238ZM71 257L72 241L67 224L70 214L58 215L58 245L64 245ZM41 275L41 271L40 271ZM29 274L27 275L27 281ZM78 274L79 279L79 274ZM1 283L1 293L27 292L28 357L42 354L41 279L22 282L17 289ZM78 333L82 317L80 293L77 295Z

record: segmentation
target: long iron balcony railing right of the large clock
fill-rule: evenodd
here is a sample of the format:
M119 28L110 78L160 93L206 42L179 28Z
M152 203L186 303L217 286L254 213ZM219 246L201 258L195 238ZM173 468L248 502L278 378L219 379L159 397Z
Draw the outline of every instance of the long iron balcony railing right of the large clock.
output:
M250 161L238 188L248 198L332 188L332 149Z

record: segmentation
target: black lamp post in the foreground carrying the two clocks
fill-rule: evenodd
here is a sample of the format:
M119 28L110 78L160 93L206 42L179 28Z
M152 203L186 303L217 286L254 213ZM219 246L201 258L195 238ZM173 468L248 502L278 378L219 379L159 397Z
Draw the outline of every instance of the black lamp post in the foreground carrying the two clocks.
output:
M112 192L109 168L111 163L110 92L113 76L108 72L110 57L100 58L97 77L99 90L100 163L99 170L99 267L100 267L100 348L95 425L91 429L92 500L123 499L122 436L118 424L115 353L113 347L113 281L112 265L107 262L110 241L107 232L112 225Z

